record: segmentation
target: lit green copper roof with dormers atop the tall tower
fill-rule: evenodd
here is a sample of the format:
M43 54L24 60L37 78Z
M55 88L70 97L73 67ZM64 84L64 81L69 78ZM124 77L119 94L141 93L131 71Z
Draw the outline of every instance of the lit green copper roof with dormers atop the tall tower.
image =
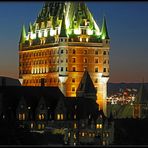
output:
M33 40L38 35L41 38L41 32L44 32L44 37L59 35L78 41L79 36L83 34L86 35L84 38L89 36L89 41L96 43L102 39L109 39L105 18L100 31L87 5L82 1L45 2L35 22L29 24L28 34L30 32ZM25 42L25 38L29 38L28 34L25 36L25 31L22 34L21 42Z

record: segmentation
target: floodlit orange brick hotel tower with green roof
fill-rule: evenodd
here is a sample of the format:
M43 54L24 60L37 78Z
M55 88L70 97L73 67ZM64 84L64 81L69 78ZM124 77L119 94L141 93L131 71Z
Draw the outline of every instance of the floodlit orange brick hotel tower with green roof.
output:
M46 2L28 31L22 28L19 80L23 86L58 86L75 97L87 70L105 110L109 49L105 18L99 28L85 3Z

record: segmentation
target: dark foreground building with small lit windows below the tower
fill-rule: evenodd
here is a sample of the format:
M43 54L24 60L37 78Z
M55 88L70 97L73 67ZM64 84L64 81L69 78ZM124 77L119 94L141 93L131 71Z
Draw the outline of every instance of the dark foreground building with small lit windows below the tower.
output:
M2 86L0 117L16 120L31 132L61 134L63 144L109 145L114 140L114 122L98 110L96 99L87 71L76 97L65 97L58 87Z

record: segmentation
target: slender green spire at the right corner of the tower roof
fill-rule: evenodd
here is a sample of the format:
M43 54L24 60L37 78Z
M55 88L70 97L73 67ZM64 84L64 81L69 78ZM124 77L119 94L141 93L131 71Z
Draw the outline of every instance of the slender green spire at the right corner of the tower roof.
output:
M102 29L101 29L101 37L102 37L102 39L109 39L105 16L103 18L103 24L102 24Z

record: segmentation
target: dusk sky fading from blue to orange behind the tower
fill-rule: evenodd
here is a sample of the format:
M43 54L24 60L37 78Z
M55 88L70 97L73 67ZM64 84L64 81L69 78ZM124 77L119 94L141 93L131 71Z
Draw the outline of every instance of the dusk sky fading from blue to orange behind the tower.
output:
M0 75L18 78L18 43L43 2L0 2ZM148 82L148 2L87 2L110 36L109 82Z

